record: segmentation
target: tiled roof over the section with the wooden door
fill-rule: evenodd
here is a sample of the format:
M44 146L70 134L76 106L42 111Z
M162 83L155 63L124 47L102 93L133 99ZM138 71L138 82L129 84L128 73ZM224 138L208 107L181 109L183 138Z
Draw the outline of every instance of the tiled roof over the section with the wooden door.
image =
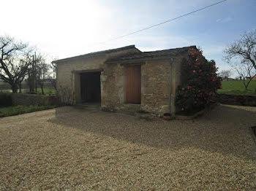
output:
M129 55L122 55L116 58L109 58L105 63L130 63L134 61L147 61L147 60L157 60L171 58L174 55L179 55L187 52L191 48L196 48L196 46L181 47L168 50L157 50L151 52L133 52Z

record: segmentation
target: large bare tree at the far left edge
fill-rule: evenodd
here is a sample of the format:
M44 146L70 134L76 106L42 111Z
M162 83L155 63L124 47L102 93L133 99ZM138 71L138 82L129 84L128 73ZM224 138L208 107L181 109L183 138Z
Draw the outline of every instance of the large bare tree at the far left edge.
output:
M16 42L10 36L0 36L0 78L12 87L12 93L21 89L31 64L29 44Z

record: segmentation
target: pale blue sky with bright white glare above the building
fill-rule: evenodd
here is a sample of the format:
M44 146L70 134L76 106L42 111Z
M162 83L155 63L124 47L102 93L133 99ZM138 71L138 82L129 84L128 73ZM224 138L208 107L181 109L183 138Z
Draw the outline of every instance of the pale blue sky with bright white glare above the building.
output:
M256 28L256 0L227 0L162 26L108 41L219 0L0 1L1 15L6 16L1 19L0 35L29 42L49 59L130 44L141 51L196 45L221 71L230 69L222 61L225 47Z

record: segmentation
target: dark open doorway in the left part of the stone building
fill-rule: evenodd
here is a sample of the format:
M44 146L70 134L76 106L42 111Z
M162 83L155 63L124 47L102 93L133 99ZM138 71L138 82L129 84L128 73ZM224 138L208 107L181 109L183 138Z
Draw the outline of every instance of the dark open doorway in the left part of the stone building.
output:
M100 72L80 74L82 102L100 102Z

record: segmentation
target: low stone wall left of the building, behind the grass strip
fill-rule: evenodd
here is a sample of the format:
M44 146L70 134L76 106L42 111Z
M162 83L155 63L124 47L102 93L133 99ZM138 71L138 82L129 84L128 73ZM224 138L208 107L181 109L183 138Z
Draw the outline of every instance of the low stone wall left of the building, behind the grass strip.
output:
M12 105L18 106L53 106L59 104L56 95L33 95L33 94L22 94L22 93L12 93Z

